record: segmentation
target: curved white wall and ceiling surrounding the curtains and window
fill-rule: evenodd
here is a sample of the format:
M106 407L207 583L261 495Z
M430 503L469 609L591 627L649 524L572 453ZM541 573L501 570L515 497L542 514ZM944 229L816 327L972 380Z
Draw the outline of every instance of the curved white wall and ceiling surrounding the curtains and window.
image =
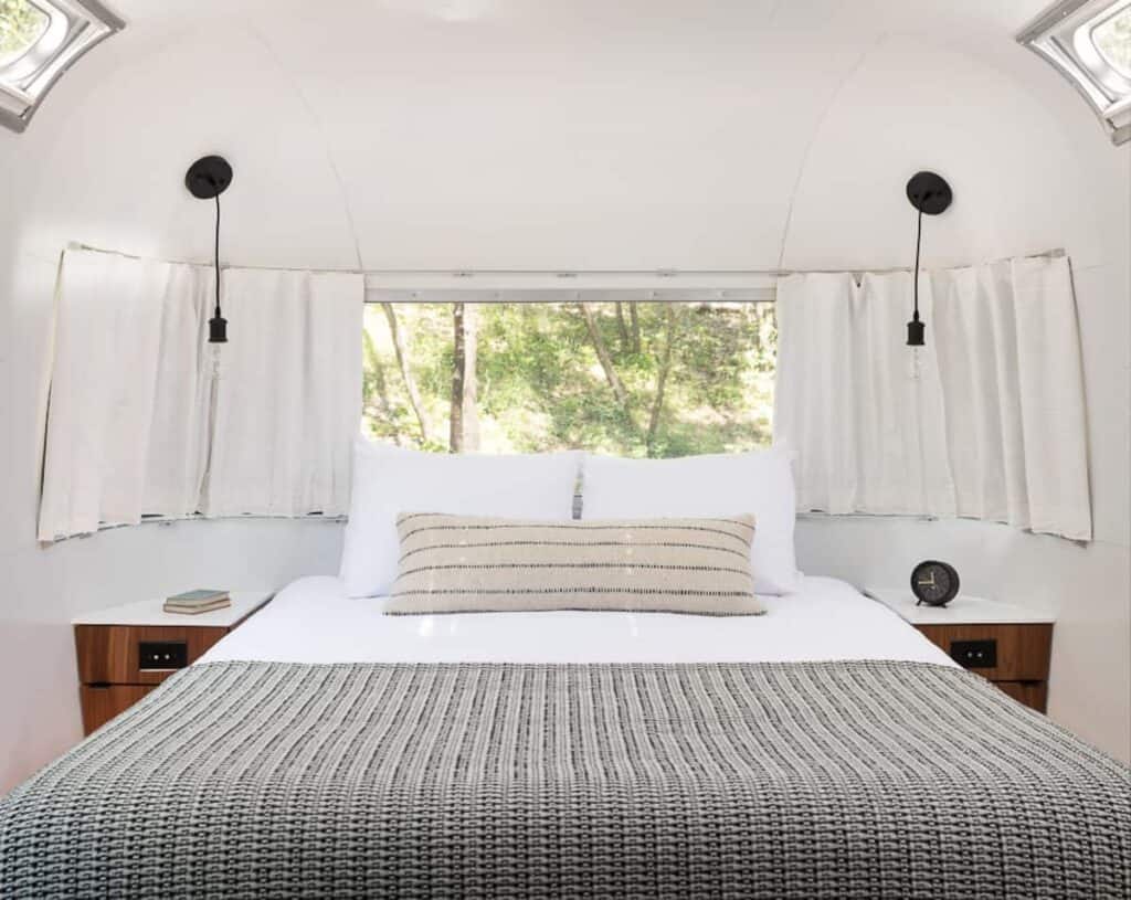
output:
M235 166L224 257L242 265L906 265L903 185L921 167L956 191L927 223L931 262L1067 248L1097 540L849 519L803 521L798 545L809 571L860 585L903 583L917 559L941 556L973 592L1054 606L1052 715L1131 756L1131 148L1113 148L1010 41L1039 2L873 0L855 15L720 3L693 20L677 3L588 5L588 19L558 5L555 18L454 24L340 0L375 17L346 34L290 2L235 5L219 31L122 6L131 27L62 80L24 136L0 135L0 677L27 686L0 700L0 790L79 734L70 615L337 565L339 528L314 522L34 540L59 252L79 241L207 259L211 210L182 178L216 150Z

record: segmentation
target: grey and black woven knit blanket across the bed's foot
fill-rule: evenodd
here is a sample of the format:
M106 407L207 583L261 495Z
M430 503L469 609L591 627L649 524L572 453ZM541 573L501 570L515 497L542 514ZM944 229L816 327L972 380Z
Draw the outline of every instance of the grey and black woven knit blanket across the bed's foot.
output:
M0 801L0 895L1126 898L1129 830L939 666L215 663Z

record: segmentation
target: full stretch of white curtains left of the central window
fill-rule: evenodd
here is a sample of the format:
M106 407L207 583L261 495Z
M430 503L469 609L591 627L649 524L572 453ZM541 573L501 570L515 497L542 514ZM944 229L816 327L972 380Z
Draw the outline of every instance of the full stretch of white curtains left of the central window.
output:
M217 349L210 267L64 254L41 540L148 514L345 512L361 276L227 269L223 284Z

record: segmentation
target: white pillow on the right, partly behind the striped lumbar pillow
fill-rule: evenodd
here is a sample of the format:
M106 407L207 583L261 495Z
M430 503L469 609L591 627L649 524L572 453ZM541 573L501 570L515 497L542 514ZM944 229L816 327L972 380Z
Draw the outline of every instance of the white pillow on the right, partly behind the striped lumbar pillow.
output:
M581 518L718 518L753 512L754 591L792 594L801 588L801 572L793 546L797 501L791 460L784 450L681 459L586 456Z

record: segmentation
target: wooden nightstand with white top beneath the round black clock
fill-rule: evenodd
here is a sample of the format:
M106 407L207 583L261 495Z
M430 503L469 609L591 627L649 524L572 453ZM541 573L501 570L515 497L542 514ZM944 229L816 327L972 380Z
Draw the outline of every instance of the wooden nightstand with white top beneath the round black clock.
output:
M1044 712L1048 698L1052 615L959 595L948 606L916 606L909 590L865 590L941 647L1027 707Z

